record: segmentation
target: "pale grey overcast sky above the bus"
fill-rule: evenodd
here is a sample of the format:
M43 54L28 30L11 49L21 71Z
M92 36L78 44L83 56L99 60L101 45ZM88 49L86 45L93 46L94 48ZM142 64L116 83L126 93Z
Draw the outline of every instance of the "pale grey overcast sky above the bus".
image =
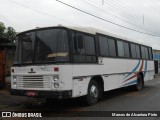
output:
M94 27L144 42L160 50L159 0L59 1L107 21L152 35L119 27L65 6L56 0L0 0L0 22L12 26L17 32L58 24Z

